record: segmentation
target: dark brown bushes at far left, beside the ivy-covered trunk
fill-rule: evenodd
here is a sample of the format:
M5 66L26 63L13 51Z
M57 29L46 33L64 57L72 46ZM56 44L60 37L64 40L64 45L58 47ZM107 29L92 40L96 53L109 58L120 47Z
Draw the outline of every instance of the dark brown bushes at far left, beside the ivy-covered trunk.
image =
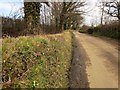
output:
M2 17L2 36L19 36L24 30L24 20Z

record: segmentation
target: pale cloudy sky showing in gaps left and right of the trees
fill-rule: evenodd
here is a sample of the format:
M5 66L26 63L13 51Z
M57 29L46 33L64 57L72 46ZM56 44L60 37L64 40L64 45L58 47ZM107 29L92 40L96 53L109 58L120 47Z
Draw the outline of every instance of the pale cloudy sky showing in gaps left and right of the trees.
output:
M97 2L98 0L87 0L86 8L89 12L84 15L84 24L99 23L100 13L98 7L96 7ZM12 15L13 12L17 12L21 7L23 7L23 0L0 0L0 16Z

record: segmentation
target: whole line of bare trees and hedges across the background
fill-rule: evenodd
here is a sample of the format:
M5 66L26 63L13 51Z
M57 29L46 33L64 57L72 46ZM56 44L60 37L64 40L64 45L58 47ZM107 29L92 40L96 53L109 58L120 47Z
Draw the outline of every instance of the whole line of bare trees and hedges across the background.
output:
M83 9L87 5L86 2L24 2L21 11L24 12L24 16L15 14L11 18L10 16L2 17L2 36L55 34L68 29L79 31L86 26L87 29L94 29L93 31L97 34L103 33L100 35L117 38L120 32L119 3L117 0L100 3L101 22L96 27L90 27L81 25L84 20L82 15L86 13ZM114 5L116 12L111 11L113 8L111 5ZM107 20L106 23L103 23L105 13L118 18L118 21Z

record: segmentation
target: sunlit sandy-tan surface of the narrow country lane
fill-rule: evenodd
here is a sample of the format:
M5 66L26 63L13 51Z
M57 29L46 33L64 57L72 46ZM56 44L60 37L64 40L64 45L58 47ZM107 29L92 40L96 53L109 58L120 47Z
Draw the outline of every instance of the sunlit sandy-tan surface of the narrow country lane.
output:
M76 47L76 51L74 49L72 64L78 56L78 62L84 62L84 71L87 74L85 81L89 83L89 87L118 88L118 46L87 34L74 32L74 35L79 48ZM77 55L78 51L80 51L80 55ZM75 74L77 68L75 69L74 66L72 65L71 73ZM76 77L84 78L82 75ZM71 78L75 82L74 75L71 74ZM71 87L75 87L75 84L71 84ZM82 86L82 88L85 87Z

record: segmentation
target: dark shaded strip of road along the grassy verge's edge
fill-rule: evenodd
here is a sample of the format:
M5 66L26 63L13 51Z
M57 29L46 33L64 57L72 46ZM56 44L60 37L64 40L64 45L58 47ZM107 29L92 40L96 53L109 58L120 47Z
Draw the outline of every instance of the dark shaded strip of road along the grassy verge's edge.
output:
M70 70L70 88L89 88L86 62L89 60L82 45L73 35L73 60Z

